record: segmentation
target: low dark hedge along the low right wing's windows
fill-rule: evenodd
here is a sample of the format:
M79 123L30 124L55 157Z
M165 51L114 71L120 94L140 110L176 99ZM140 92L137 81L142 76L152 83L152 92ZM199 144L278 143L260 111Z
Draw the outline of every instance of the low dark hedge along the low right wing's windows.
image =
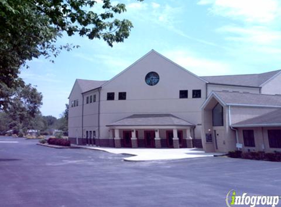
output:
M228 154L232 158L243 158L243 159L254 159L254 160L265 160L265 161L274 161L281 162L281 153L265 153L262 151L259 152L242 152L242 151L230 151Z

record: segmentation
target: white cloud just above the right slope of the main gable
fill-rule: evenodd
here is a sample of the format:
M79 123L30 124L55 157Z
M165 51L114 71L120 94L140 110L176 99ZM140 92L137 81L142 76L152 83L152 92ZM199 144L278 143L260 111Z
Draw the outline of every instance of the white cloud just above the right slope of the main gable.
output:
M230 65L223 61L200 57L185 50L167 51L163 54L198 76L227 75L231 71Z

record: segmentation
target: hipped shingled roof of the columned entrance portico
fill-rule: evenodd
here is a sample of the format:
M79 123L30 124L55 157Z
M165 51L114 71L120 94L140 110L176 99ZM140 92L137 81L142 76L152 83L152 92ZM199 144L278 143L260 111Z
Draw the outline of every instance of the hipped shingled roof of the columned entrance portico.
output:
M133 114L107 127L114 126L195 126L172 114Z

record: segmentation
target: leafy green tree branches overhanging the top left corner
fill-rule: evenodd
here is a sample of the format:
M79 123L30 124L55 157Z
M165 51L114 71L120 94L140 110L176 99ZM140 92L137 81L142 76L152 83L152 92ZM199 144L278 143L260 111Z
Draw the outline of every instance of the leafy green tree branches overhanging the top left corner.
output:
M0 109L8 106L12 89L23 86L19 69L26 60L74 47L56 46L63 32L102 38L111 47L128 38L132 23L114 18L125 4L102 2L102 13L96 13L95 0L0 0Z

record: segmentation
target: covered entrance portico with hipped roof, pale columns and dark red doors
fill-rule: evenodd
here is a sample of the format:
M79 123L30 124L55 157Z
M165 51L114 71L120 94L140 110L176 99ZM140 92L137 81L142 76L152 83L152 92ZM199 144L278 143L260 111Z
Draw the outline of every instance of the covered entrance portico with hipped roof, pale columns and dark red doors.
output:
M192 148L194 125L171 114L135 114L109 127L116 148Z

